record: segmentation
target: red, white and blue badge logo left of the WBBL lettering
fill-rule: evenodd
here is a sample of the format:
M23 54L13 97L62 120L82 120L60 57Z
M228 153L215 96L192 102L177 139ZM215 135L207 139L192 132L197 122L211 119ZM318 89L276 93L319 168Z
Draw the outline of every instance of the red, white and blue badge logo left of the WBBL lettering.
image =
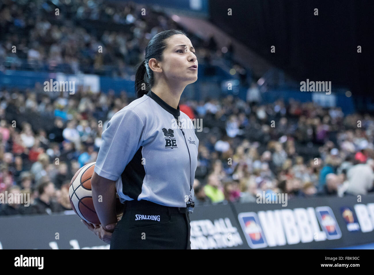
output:
M238 219L249 247L267 247L264 233L262 232L260 222L255 212L240 213Z

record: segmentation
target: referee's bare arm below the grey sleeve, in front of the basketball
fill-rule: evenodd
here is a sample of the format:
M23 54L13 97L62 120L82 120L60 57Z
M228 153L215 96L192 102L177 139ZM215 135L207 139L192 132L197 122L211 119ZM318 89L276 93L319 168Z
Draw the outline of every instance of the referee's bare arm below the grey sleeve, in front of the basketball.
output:
M116 215L116 181L101 177L93 172L91 178L92 199L96 214L102 227L111 223L117 223ZM101 200L99 201L99 195ZM113 232L113 229L105 229Z

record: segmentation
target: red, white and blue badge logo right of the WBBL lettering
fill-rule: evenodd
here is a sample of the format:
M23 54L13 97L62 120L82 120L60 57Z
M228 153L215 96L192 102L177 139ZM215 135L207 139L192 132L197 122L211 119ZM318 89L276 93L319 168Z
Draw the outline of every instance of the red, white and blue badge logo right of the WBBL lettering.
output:
M328 240L341 238L340 228L336 222L334 213L328 206L316 207L317 217Z

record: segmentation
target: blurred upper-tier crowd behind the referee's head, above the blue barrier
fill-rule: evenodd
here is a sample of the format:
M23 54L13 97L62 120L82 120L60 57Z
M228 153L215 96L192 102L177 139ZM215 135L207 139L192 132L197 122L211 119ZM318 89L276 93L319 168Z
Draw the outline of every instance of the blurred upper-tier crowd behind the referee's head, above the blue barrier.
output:
M131 79L154 35L183 28L151 6L131 1L116 4L104 0L0 2L0 72L82 72ZM207 41L193 34L188 37L200 62L232 59L232 44L223 53L212 36Z

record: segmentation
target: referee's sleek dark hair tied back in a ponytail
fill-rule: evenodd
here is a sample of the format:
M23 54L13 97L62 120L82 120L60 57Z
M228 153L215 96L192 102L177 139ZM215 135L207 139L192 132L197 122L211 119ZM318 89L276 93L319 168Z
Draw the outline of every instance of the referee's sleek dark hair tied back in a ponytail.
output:
M148 43L145 48L145 58L138 64L137 73L135 74L135 95L137 98L141 98L152 88L154 83L153 71L148 67L149 59L155 58L159 61L163 59L163 51L166 49L166 39L175 34L186 35L180 30L168 30L162 31L154 37Z

